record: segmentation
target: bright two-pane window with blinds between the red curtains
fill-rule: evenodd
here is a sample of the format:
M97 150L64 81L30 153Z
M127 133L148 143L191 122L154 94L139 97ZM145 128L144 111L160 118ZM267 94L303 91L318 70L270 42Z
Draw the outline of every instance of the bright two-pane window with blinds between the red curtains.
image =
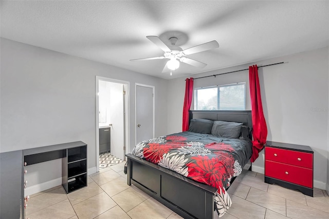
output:
M245 110L246 83L195 88L194 109Z

